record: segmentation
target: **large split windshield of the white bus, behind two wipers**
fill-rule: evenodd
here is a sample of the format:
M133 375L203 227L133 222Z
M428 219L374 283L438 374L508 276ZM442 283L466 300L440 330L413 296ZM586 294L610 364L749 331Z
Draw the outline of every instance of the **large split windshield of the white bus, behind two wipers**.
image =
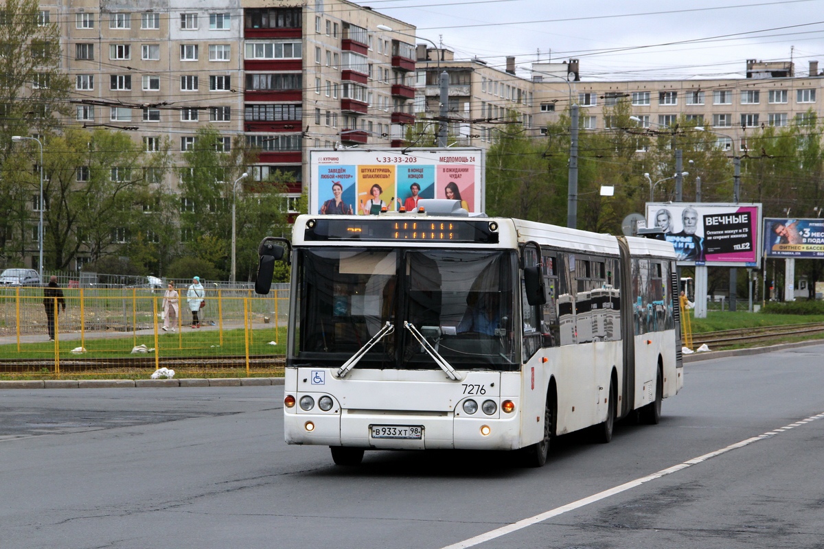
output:
M357 368L438 370L407 322L456 369L517 370L515 281L511 250L298 249L290 362L338 367L390 323Z

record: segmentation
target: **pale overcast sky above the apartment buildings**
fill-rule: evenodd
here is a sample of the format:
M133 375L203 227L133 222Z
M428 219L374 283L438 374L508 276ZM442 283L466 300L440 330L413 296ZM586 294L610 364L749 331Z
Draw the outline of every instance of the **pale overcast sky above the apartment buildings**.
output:
M357 0L418 35L519 73L536 61L581 61L583 80L744 76L747 59L824 69L824 0ZM419 40L424 43L424 41ZM793 50L791 52L791 49Z

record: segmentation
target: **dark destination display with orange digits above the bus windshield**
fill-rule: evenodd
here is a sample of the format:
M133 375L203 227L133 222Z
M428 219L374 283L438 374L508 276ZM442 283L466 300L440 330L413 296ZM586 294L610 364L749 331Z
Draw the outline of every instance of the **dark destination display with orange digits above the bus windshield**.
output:
M498 244L489 221L425 219L316 219L307 223L306 240L408 240Z

